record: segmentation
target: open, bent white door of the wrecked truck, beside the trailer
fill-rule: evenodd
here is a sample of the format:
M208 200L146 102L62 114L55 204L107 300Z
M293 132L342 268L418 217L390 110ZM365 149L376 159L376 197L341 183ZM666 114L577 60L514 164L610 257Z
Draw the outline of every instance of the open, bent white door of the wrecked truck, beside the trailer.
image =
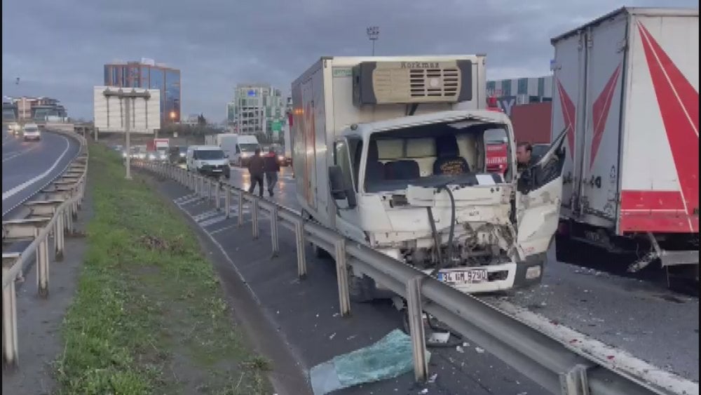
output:
M562 130L538 162L519 175L516 192L517 250L522 260L529 255L545 253L557 231L566 132L567 129Z

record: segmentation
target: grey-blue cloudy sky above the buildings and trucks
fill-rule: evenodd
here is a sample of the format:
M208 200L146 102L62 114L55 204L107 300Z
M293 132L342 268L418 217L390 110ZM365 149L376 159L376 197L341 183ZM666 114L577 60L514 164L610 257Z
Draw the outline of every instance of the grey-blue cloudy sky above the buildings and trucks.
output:
M226 117L236 83L290 82L321 55L486 53L489 79L547 74L550 37L618 0L3 0L2 94L62 100L92 119L105 62L182 72L183 114ZM698 7L697 0L627 6ZM20 83L15 79L20 77Z

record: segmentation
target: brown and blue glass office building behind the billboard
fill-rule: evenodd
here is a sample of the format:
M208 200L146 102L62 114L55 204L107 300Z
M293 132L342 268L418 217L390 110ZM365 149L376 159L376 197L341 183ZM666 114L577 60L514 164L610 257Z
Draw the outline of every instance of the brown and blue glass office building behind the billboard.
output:
M114 62L104 65L104 85L121 88L147 88L161 91L161 125L177 123L181 116L180 70L157 64L152 59L140 62Z

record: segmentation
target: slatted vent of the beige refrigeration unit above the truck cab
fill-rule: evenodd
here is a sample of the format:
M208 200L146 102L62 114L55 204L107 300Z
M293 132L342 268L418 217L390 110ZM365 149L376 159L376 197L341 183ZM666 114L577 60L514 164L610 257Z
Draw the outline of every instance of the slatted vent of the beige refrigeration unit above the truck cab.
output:
M460 87L460 72L455 67L411 69L409 70L409 83L412 98L457 97Z

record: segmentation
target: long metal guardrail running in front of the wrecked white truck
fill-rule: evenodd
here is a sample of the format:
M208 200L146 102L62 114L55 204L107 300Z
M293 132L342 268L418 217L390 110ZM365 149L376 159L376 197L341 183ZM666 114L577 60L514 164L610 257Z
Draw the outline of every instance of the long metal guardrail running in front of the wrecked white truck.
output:
M245 201L250 202L254 239L259 237L260 211L267 211L271 219L273 255L277 255L279 250L279 226L283 225L294 232L297 245L297 274L301 278L307 273L305 242L311 241L327 250L336 260L339 304L343 316L351 312L348 265L358 265L362 272L369 274L375 281L406 298L414 349L414 373L418 381L426 380L428 375L426 340L423 333L423 312L426 312L466 338L477 342L553 394L698 394L697 383L680 377L674 376L668 382L664 382L658 380L660 377L651 380L650 377L641 377L616 368L615 363L607 363L574 349L563 340L550 337L486 302L461 293L403 262L346 239L331 229L305 220L292 210L242 189L222 185L218 180L190 173L167 163L135 161L135 165L176 180L205 199L214 199L217 209L222 209L223 192L224 213L227 217L231 215L232 198L236 196L239 226L243 225L243 204Z

